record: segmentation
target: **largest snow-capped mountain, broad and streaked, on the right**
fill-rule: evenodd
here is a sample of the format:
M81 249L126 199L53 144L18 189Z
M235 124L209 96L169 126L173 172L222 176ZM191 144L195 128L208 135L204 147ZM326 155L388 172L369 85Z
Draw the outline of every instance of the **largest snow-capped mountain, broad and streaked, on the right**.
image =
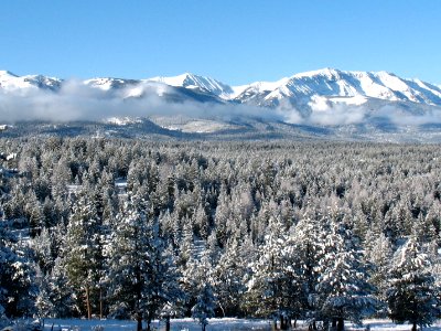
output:
M368 98L441 105L440 87L386 72L324 68L295 74L275 83L254 83L241 89L236 100L263 107L277 107L287 102L294 107L304 107L316 98L348 105L359 105Z

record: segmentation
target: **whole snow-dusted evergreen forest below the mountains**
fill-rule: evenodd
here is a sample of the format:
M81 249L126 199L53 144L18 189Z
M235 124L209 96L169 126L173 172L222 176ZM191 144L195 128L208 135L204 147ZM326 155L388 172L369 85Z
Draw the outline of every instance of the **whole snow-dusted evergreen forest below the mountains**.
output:
M439 146L29 138L0 152L0 327L440 316Z

